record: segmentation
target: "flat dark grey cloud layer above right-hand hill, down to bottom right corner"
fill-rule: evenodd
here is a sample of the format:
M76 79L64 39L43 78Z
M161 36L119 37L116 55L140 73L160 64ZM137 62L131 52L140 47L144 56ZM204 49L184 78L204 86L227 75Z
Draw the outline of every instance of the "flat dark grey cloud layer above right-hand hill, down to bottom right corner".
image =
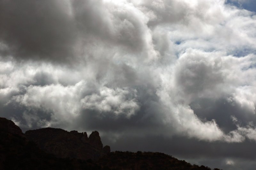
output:
M113 135L114 136L114 135ZM209 166L221 169L253 169L255 167L255 143L208 143L186 137L162 135L135 136L123 135L116 140L103 136L102 141L106 145L113 146L117 151L151 151L164 152L179 159L185 159L191 164ZM228 165L227 161L234 162Z

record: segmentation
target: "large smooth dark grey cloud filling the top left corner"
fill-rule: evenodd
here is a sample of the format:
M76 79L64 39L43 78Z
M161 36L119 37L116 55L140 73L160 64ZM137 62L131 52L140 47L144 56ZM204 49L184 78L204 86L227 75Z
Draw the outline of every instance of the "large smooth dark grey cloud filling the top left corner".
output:
M4 55L17 59L65 61L73 57L76 32L61 1L1 1Z

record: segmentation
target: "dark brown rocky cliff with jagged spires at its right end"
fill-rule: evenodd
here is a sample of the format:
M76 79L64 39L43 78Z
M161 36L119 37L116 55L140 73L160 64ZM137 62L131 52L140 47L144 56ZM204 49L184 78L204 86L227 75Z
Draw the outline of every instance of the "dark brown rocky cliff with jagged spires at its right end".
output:
M25 136L34 141L40 149L59 158L97 160L110 152L109 146L103 148L97 131L93 131L88 138L86 132L42 128L26 131Z

